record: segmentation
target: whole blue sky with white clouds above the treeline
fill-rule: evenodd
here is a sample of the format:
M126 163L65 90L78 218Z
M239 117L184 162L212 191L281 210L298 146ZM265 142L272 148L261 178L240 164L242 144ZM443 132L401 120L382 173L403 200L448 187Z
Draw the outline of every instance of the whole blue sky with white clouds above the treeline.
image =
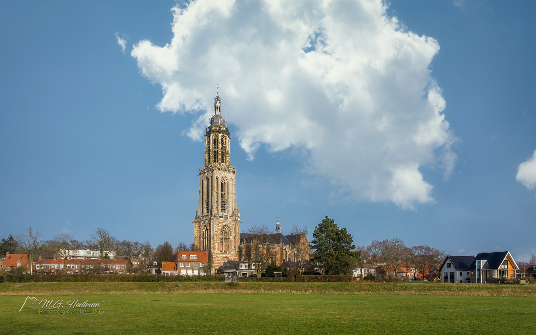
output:
M173 1L0 4L0 237L103 227L191 243L198 132L218 83L243 231L279 217L311 235L327 215L358 245L536 254L536 5L391 1L363 14L335 2L309 31L293 24L314 5L271 8L272 20L231 5L180 4L173 24ZM390 130L370 131L370 115Z

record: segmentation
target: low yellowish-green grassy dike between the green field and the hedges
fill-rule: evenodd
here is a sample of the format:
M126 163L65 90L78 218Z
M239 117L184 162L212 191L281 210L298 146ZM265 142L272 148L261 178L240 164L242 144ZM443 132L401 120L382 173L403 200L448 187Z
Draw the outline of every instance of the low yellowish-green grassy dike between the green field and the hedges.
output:
M179 287L175 287L178 285ZM28 282L0 283L0 295L43 294L397 294L536 296L535 284L453 284L441 282Z

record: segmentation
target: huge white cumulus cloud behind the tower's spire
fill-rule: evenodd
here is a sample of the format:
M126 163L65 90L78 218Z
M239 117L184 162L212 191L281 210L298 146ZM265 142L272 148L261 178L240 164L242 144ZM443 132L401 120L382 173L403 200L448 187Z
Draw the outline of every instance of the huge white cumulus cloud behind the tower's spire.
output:
M351 200L433 203L424 165L445 178L456 154L437 41L389 16L381 0L197 0L176 6L165 46L140 41L140 72L162 86L161 111L200 114L204 135L220 84L222 114L250 159L259 146L308 153L309 173Z

